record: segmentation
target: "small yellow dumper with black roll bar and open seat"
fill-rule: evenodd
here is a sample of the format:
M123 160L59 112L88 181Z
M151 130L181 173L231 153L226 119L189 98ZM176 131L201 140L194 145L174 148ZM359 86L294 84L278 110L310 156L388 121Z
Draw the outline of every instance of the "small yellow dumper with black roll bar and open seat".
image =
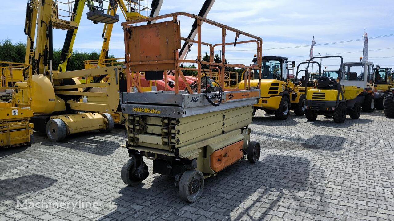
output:
M320 76L316 81L316 89L306 91L307 110L305 116L308 121L316 120L318 115L332 116L335 123L343 123L346 115L349 115L352 119L360 117L363 99L359 97L359 94L361 94L363 89L356 86L341 85L340 79L343 68L343 58L341 56L313 57L310 59L305 70L305 84L308 83L307 80L310 76L308 68L313 59L334 57L341 59L338 76L336 76L339 80L336 81L335 76Z

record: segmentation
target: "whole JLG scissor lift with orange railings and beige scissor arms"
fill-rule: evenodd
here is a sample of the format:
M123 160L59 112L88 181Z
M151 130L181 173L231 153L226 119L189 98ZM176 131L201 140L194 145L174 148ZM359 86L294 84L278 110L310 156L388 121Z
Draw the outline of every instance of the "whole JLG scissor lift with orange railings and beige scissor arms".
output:
M197 41L180 36L178 17L195 19ZM136 26L141 22L165 20L156 24ZM210 44L201 41L201 24L212 25L221 30L221 42ZM249 141L249 124L253 118L252 105L260 97L259 89L251 89L245 79L244 88L228 91L224 88L225 67L260 70L262 39L189 13L173 13L154 18L125 22L126 76L138 92L121 93L122 111L128 114L126 148L130 159L121 170L123 182L137 186L149 175L143 157L153 160L153 173L175 177L180 197L194 202L203 192L204 179L241 160L244 155L251 162L260 157L258 142ZM226 35L233 33L245 41L226 43ZM210 34L212 35L212 33ZM214 37L214 36L210 36ZM197 59L179 59L181 41L197 44ZM225 64L225 45L257 44L258 61L255 66ZM221 46L222 63L201 61L201 48ZM197 81L178 90L178 76L183 83L182 63L195 63ZM203 65L219 67L218 87L210 83ZM167 79L167 70L175 73L174 91L142 92L138 79L130 72L145 72L151 80ZM139 75L137 75L138 77ZM130 87L127 87L130 89Z

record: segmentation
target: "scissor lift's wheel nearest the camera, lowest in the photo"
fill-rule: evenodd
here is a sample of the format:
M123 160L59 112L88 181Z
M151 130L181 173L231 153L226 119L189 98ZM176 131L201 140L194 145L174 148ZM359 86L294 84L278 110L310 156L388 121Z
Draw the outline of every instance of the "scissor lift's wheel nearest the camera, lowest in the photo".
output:
M178 191L184 201L194 203L200 199L204 189L204 175L201 171L186 170L179 180Z

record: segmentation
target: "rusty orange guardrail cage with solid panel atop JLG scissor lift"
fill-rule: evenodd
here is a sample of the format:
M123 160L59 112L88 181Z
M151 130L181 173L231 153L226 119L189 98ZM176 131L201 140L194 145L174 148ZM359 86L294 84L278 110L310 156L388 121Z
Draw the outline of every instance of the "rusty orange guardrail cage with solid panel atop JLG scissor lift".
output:
M184 38L180 36L180 23L178 21L179 16L185 16L189 18L193 18L196 21L197 24L197 41L189 38ZM150 21L156 21L160 20L163 18L172 18L170 21L166 22L161 22L161 23L166 23L166 26L161 27L162 29L166 29L167 26L171 25L171 30L168 29L166 31L160 32L160 36L152 36L150 35L149 38L151 38L150 44L155 44L157 47L162 47L163 50L168 50L167 54L160 53L161 57L164 57L165 59L159 59L156 56L157 48L145 46L142 44L139 44L134 38L141 37L143 39L144 33L146 33L147 30L153 32L151 27L153 25L158 25L160 23L155 23L155 24L147 24L147 25L141 25L137 26L138 23L141 22L150 22ZM222 30L222 35L221 35L221 43L219 44L210 44L206 42L201 41L201 24L202 23L210 24L212 26L216 26L218 28L221 28ZM162 72L164 74L164 81L167 82L167 71L175 70L175 94L179 93L179 84L178 84L178 78L180 77L183 83L186 85L186 89L192 93L192 90L190 88L190 85L186 81L186 78L182 72L182 70L195 70L197 71L197 93L201 93L201 76L202 72L206 76L208 76L211 72L211 69L214 66L219 67L218 72L219 72L219 79L218 79L218 85L223 88L223 91L226 91L227 89L224 87L224 79L225 79L225 68L226 67L233 67L233 68L244 68L245 70L261 70L261 59L262 59L262 39L260 37L257 37L255 35L251 35L249 33L240 31L235 28L231 28L229 26L220 24L218 22L206 19L204 17L200 17L197 15L193 15L190 13L184 13L184 12L178 12L178 13L171 13L167 15L161 15L157 17L152 17L152 18L144 18L144 19L139 19L139 20L132 20L132 21L127 21L122 23L123 30L125 31L125 65L126 65L126 81L128 84L130 82L136 87L138 92L142 92L141 87L139 86L139 72L141 71L147 71L145 73L152 72L153 70L155 71L154 74L156 74L156 77L158 77L158 74ZM142 29L142 30L141 30ZM175 31L174 31L175 30ZM232 31L236 33L235 40L233 42L225 42L226 38L226 31ZM140 35L140 36L138 36ZM164 35L167 36L167 44L159 44L159 41L162 41L164 38ZM176 36L177 35L177 36ZM251 40L247 41L236 41L240 35L243 35L244 37L248 37ZM141 40L145 41L145 40ZM197 59L179 59L179 54L178 50L181 48L180 47L180 41L188 41L188 42L193 42L197 44ZM175 42L175 43L174 43ZM225 63L225 46L226 45L234 45L236 44L245 44L245 43L252 43L255 42L257 44L257 58L258 61L256 65L245 65L245 64L226 64ZM174 44L174 46L170 45ZM142 46L141 46L142 45ZM210 61L202 61L202 56L201 56L201 46L208 46L210 50ZM143 47L144 49L151 50L143 50L143 53L147 53L149 55L141 55L141 52L136 50L136 47ZM221 54L221 63L215 63L214 62L214 48L216 46L221 46L222 54ZM172 47L172 48L169 48ZM141 48L139 50L142 50ZM164 54L164 56L162 56ZM180 67L181 63L195 63L197 64L197 68L183 68ZM206 73L203 70L203 65L209 66L208 70ZM167 68L167 69L164 69ZM137 80L134 80L134 77L131 77L131 72L136 72L136 77ZM148 76L148 74L146 74ZM261 73L259 72L259 81L261 79ZM258 88L260 88L260 83L258 84ZM250 75L248 76L248 79L245 78L245 90L250 89ZM167 90L167 87L165 88ZM127 92L130 92L130 85L127 87Z

